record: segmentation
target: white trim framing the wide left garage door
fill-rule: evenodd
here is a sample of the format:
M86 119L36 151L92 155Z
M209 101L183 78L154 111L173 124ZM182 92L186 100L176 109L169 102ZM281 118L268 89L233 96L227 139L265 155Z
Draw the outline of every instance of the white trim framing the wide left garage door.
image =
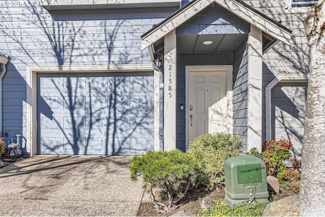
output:
M151 64L120 65L36 65L26 67L27 152L37 155L37 74L38 73L125 73L152 71L154 85L154 151L159 151L159 71Z

